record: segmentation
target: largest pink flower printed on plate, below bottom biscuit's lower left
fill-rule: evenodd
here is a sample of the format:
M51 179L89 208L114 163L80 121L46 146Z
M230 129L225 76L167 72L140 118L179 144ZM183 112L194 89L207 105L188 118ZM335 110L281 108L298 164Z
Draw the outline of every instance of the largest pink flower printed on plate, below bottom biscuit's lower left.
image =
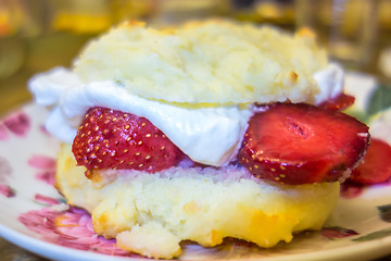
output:
M49 200L49 197L42 195L36 198L45 198L46 202ZM49 201L59 202L56 199ZM83 209L70 207L67 210L58 211L53 207L47 207L23 213L18 221L39 234L43 240L60 246L111 256L139 257L116 247L115 239L98 236L92 228L90 214Z

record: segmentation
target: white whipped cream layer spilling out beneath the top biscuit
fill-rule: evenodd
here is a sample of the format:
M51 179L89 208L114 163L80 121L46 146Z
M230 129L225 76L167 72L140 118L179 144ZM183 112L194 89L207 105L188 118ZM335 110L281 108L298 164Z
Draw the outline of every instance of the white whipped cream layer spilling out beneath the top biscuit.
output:
M314 79L319 86L316 103L342 91L343 71L336 64L317 72ZM53 108L46 127L64 142L73 142L89 108L106 107L148 119L193 161L214 166L234 160L254 113L252 104L194 109L149 100L114 80L81 83L64 67L36 75L28 86L38 104Z

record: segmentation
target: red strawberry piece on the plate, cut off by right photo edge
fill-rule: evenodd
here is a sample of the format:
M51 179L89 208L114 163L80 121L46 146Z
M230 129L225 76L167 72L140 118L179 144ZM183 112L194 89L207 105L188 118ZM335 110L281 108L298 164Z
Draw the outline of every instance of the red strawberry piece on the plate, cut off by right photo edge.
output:
M360 184L378 184L391 178L391 147L387 142L371 138L362 163L353 170L350 181Z

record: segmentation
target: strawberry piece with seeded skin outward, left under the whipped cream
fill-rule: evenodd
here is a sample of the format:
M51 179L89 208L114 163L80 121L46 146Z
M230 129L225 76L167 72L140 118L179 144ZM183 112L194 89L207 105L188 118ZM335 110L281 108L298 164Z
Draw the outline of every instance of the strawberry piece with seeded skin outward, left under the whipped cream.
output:
M154 173L178 163L182 152L144 117L106 108L90 109L74 139L78 165Z

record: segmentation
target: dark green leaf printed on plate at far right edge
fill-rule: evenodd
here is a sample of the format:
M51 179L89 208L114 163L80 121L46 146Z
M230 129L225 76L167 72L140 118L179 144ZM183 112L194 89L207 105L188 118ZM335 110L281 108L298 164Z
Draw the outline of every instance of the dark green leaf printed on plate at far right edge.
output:
M370 97L367 113L371 115L389 107L391 107L391 88L379 84Z

